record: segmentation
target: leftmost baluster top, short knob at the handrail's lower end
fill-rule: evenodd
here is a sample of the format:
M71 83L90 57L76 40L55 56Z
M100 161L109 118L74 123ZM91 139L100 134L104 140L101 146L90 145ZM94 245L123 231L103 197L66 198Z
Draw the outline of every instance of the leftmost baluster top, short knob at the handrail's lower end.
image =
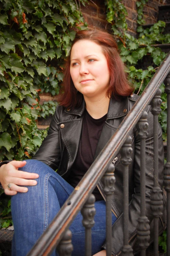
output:
M72 233L68 229L59 245L57 246L57 252L60 256L71 256L71 252L73 251L73 245L71 244Z

